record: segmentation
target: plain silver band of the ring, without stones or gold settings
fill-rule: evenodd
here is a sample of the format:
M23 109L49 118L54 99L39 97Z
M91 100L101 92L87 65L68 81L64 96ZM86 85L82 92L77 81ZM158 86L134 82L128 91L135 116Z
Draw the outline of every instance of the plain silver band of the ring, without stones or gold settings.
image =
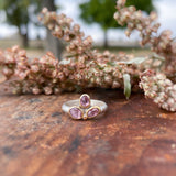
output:
M72 107L74 107L74 106L76 106L76 107L79 106L79 99L77 99L77 100L69 100L69 101L65 102L62 106L62 110L67 113L67 112L69 112L69 109ZM100 100L94 100L94 99L90 100L90 106L91 107L92 106L98 106L100 108L101 112L105 112L107 110L107 108L108 108L108 106L107 106L106 102L100 101Z

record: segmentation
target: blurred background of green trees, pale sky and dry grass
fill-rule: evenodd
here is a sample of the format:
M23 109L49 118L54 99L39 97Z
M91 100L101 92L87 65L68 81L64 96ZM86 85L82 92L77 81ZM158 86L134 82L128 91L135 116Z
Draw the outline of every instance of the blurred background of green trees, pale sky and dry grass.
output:
M130 4L142 9L144 13L156 11L162 23L160 30L169 29L176 35L176 1L129 0L128 6ZM128 38L124 34L125 26L120 28L117 24L113 19L116 0L0 0L0 48L18 44L25 47L31 57L52 51L61 58L63 44L37 20L43 7L72 16L87 35L92 36L95 47L106 47L113 52L125 50L136 55L148 52L147 46L139 48L138 33Z

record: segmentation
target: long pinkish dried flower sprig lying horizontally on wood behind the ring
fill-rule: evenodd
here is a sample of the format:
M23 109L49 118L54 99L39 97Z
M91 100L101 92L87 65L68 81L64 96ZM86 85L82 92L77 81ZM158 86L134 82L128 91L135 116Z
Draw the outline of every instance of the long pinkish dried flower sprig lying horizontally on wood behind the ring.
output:
M141 70L135 64L118 63L109 52L99 54L94 51L92 54L95 59L85 63L72 58L58 62L51 52L40 59L30 61L24 50L13 46L0 51L0 66L7 79L14 78L11 79L14 94L51 95L62 90L73 91L78 87L123 88L124 74L130 76L132 88L136 88ZM124 56L128 57L119 55Z

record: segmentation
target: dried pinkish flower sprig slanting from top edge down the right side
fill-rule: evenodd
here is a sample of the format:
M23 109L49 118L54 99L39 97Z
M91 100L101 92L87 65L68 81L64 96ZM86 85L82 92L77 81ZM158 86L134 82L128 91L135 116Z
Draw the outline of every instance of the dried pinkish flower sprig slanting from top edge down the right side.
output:
M157 58L160 57L162 61L163 58L165 59L165 74L169 77L173 77L173 75L175 76L176 42L172 38L172 32L166 30L158 34L161 24L156 22L157 15L155 12L145 15L141 10L136 10L133 6L124 6L125 0L117 1L114 19L121 25L128 24L125 34L130 36L132 31L139 31L142 38L141 45L151 44L151 48L157 54ZM155 57L155 55L153 57Z

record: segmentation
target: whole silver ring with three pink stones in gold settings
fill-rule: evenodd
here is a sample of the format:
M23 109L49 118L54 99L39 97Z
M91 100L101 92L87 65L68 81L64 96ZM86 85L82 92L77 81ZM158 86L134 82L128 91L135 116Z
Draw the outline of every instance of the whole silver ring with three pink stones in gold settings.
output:
M103 114L108 106L100 100L90 99L87 94L80 96L77 100L69 100L62 106L62 110L73 119L92 119Z

